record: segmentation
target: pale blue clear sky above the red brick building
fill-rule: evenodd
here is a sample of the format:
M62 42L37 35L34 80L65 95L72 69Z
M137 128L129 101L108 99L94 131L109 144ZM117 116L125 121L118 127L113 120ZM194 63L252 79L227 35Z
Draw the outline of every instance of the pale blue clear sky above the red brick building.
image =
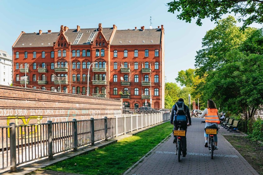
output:
M209 19L197 26L195 21L185 23L175 14L167 12L165 5L172 0L132 1L10 1L0 3L0 49L10 55L17 37L25 33L60 31L61 25L69 28L102 27L132 29L164 25L165 28L165 75L168 82L175 82L180 70L194 68L196 51L202 48L202 38L207 30L215 27ZM261 27L260 25L252 25Z

